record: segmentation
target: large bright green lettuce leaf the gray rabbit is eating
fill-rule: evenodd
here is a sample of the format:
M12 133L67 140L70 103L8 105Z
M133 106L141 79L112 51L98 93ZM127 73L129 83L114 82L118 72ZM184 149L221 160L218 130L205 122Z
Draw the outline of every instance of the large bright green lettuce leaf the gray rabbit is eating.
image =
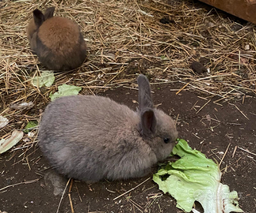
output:
M220 168L212 159L190 148L185 140L178 140L172 154L181 159L160 169L153 180L162 192L177 200L178 208L190 212L197 200L204 213L243 212L237 192L230 192L227 185L220 183Z

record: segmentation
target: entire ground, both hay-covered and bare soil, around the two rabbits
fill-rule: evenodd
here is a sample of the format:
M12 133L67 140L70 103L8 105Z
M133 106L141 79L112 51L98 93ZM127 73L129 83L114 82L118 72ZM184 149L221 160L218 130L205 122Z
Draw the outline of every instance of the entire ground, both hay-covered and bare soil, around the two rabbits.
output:
M75 20L88 45L80 68L55 73L54 84L43 88L31 84L45 67L25 34L37 6L55 6L55 15ZM243 211L256 212L254 24L196 0L6 0L0 8L0 115L10 120L0 129L1 138L40 121L49 94L62 84L82 87L82 95L109 96L135 110L136 77L144 73L155 107L177 121L179 137L208 158L223 159L222 183L238 192ZM194 61L203 69L193 69ZM30 110L10 109L13 103L30 101ZM71 180L67 185L69 180L55 174L36 143L36 134L25 134L0 155L0 213L182 212L152 181L158 165L144 178L94 184Z

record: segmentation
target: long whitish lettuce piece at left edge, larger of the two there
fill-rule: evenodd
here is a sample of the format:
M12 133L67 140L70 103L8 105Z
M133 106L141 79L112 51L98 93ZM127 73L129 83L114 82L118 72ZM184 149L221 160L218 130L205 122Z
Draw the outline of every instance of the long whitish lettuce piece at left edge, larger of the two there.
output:
M22 137L23 132L14 130L9 138L0 140L0 154L12 148Z

